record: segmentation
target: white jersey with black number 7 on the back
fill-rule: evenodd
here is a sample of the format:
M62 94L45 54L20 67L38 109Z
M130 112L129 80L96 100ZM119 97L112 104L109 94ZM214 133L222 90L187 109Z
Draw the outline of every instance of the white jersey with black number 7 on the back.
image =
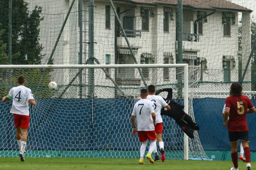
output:
M151 113L154 113L154 103L148 99L140 99L134 105L132 111L133 116L136 116L138 131L154 130L154 123Z

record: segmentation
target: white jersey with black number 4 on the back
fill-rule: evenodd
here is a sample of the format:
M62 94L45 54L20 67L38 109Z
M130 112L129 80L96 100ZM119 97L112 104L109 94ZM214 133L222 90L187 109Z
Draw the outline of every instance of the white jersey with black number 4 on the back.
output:
M29 116L29 99L34 99L29 88L23 85L14 87L8 96L12 97L11 113Z

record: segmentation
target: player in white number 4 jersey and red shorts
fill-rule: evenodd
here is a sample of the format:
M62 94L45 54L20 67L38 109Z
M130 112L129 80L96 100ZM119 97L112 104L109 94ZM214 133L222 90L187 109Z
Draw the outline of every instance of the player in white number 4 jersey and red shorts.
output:
M8 96L3 97L2 102L12 99L11 113L13 113L16 139L20 149L20 161L24 161L24 151L26 148L27 133L29 129L29 103L35 105L32 92L24 86L25 77L18 77L19 86L10 90Z

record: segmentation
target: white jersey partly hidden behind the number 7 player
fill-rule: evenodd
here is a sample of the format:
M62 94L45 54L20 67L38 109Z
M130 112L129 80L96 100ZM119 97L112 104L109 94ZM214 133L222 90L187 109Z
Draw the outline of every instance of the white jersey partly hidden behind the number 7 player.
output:
M166 107L168 104L164 101L163 97L161 96L148 95L147 99L150 100L151 102L154 102L154 106L155 106L154 110L156 113L156 123L163 122L163 119L161 117L161 109L162 107Z

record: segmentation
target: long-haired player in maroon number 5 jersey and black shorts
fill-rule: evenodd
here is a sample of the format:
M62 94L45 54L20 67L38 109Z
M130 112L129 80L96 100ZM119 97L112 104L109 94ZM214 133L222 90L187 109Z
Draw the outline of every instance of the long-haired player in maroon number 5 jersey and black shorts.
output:
M246 121L246 113L253 113L256 109L250 99L247 96L242 95L242 86L238 82L232 83L230 87L230 96L227 97L225 104L224 126L228 127L228 136L231 145L231 158L234 164L234 167L231 168L231 170L238 170L238 140L241 140L244 147L247 170L251 170L249 128Z

